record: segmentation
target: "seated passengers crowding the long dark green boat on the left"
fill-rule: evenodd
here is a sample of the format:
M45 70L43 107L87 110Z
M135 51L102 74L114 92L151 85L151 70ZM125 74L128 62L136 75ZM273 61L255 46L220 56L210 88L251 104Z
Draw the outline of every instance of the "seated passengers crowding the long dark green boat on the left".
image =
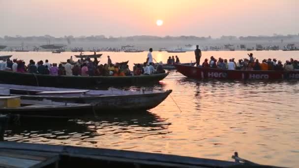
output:
M112 63L110 56L107 56L108 61L105 64L99 64L97 58L93 61L90 58L81 58L78 61L73 61L72 56L67 59L66 63L61 62L50 63L48 59L35 62L30 60L26 65L25 61L9 58L0 61L0 70L10 70L19 73L34 73L42 75L67 75L67 76L138 76L151 75L155 73L165 73L162 67L162 62L157 68L153 67L153 63L145 62L143 66L137 64L131 72L126 63Z

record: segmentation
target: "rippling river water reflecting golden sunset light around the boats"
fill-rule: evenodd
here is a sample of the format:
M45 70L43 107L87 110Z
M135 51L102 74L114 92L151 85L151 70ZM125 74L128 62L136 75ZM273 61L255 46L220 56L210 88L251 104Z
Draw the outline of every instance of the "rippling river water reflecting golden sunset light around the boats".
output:
M252 52L255 57L290 57L299 52ZM0 52L13 58L65 61L74 53ZM86 53L89 54L89 53ZM114 62L143 62L147 53L103 53ZM157 61L173 55L153 52ZM193 52L177 54L181 62L194 60ZM205 57L236 59L247 52L203 52ZM122 89L141 89L124 87ZM260 164L299 166L299 82L227 82L196 81L176 71L146 89L173 89L158 107L146 112L98 114L97 117L9 125L5 140L66 144L100 148L145 151L183 156L231 160L234 151L240 157Z

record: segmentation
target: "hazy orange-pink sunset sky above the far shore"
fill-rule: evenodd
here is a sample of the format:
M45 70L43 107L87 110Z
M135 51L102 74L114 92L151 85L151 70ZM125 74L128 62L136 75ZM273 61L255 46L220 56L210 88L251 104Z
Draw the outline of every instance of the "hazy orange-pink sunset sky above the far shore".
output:
M298 7L299 0L0 0L0 36L298 34Z

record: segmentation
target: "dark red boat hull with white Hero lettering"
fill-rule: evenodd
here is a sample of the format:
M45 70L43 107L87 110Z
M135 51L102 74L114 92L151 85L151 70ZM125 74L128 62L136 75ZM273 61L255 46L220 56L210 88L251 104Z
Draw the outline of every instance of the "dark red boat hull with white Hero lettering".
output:
M225 80L291 80L299 79L299 71L246 71L226 70L188 65L176 65L177 70L186 77L194 79Z

